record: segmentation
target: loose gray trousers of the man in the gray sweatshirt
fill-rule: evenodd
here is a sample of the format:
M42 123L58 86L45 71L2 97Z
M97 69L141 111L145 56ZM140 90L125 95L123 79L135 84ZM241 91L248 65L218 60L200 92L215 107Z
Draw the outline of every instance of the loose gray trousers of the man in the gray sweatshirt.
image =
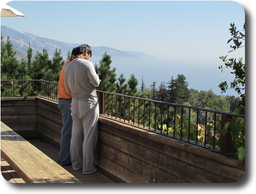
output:
M94 169L94 151L98 140L99 106L87 99L72 99L72 135L70 156L73 169Z

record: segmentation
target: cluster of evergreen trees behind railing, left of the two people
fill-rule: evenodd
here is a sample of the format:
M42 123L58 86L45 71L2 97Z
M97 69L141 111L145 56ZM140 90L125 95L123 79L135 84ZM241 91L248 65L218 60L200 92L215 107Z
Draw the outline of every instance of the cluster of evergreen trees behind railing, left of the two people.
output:
M42 52L37 51L33 56L33 50L31 47L27 50L26 58L22 58L20 61L15 57L15 51L10 38L7 37L7 41L3 41L1 36L1 79L7 80L47 80L58 81L61 68L65 62L61 57L61 50L56 49L54 57L49 59L49 54L46 49ZM8 86L7 86L8 85ZM20 81L7 84L4 88L1 87L1 95L5 92L5 95L9 96L34 96L36 90L40 90L40 85L33 83L32 86L29 82ZM32 88L31 88L32 87ZM13 88L12 92L4 91L5 88Z

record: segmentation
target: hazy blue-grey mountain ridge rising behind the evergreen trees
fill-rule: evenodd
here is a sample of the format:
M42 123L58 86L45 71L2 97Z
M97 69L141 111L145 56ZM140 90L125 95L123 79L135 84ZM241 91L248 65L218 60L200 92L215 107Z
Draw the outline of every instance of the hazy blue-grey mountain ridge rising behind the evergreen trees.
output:
M68 51L72 51L74 47L77 47L79 44L65 43L49 38L44 38L40 36L33 35L29 32L19 32L13 30L7 26L1 25L1 33L3 40L7 40L7 36L10 37L10 41L13 44L13 48L17 51L17 57L23 58L26 56L26 51L29 47L33 49L33 53L36 51L42 51L43 48L47 49L47 52L50 57L54 56L56 48L61 49L61 54L63 58L67 57ZM145 57L147 54L142 52L131 52L131 51L120 51L118 49L106 47L106 46L97 46L92 47L93 56L102 56L104 52L110 54L111 57ZM152 56L148 56L152 57Z

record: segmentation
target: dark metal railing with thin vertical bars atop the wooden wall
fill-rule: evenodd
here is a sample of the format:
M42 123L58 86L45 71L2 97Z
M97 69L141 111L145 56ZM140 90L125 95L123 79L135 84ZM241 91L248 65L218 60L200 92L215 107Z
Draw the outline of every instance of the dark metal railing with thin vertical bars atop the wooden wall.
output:
M1 80L1 97L39 96L57 101L57 93L56 82ZM245 115L118 93L97 91L97 94L103 117L222 153L234 154L234 140L230 134L222 134L227 120L245 119Z

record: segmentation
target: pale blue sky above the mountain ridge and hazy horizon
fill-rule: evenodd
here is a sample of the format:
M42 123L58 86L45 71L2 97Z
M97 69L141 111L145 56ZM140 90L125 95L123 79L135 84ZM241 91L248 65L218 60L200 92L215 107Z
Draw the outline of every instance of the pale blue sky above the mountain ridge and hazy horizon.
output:
M242 29L245 17L242 5L234 1L12 1L7 4L25 17L1 18L1 25L19 32L161 58L219 57L229 49L226 42L230 39L230 23Z

